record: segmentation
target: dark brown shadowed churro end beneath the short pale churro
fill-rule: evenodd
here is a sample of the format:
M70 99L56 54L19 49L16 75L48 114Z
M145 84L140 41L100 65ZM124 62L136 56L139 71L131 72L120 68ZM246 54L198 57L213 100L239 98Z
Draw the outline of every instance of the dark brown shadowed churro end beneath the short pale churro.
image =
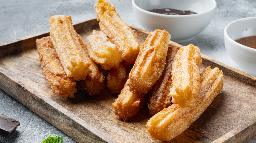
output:
M120 94L120 91L123 89L124 84L128 79L129 72L130 66L126 66L124 62L119 63L119 68L117 70L110 69L108 71L107 87L111 94Z

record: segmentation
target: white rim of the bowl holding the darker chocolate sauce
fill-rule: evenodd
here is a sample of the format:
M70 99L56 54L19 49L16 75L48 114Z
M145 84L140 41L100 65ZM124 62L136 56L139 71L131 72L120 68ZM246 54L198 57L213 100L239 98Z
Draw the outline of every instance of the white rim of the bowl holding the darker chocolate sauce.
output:
M139 9L140 11L145 12L145 13L147 13L147 14L152 14L152 15L155 15L155 16L162 16L162 17L195 17L195 16L200 16L200 15L202 15L202 14L208 13L208 12L210 12L210 11L213 11L213 10L217 7L216 1L215 1L215 0L210 0L210 1L212 1L212 2L214 3L213 8L212 8L212 9L209 9L208 11L205 11L205 12L203 12L203 13L189 14L189 15L165 15L165 14L154 13L154 12L150 12L150 11L144 10L144 9L140 8L139 6L137 6L134 1L135 1L135 0L132 0L132 5L133 5L135 8Z

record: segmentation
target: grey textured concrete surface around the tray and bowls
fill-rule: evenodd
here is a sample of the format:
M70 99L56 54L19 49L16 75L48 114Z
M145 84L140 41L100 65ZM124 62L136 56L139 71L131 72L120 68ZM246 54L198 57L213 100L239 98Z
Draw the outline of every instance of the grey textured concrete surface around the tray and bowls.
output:
M109 2L116 5L117 13L125 22L142 28L134 18L131 0L109 0ZM216 2L216 13L210 25L193 40L181 44L192 43L200 47L202 54L242 70L226 53L223 31L231 21L256 16L256 1L216 0ZM48 18L52 15L71 16L73 23L96 17L95 3L96 0L0 0L0 44L49 30ZM39 143L51 133L64 136L65 143L75 142L1 89L0 113L21 122L10 138L0 137L0 143Z

